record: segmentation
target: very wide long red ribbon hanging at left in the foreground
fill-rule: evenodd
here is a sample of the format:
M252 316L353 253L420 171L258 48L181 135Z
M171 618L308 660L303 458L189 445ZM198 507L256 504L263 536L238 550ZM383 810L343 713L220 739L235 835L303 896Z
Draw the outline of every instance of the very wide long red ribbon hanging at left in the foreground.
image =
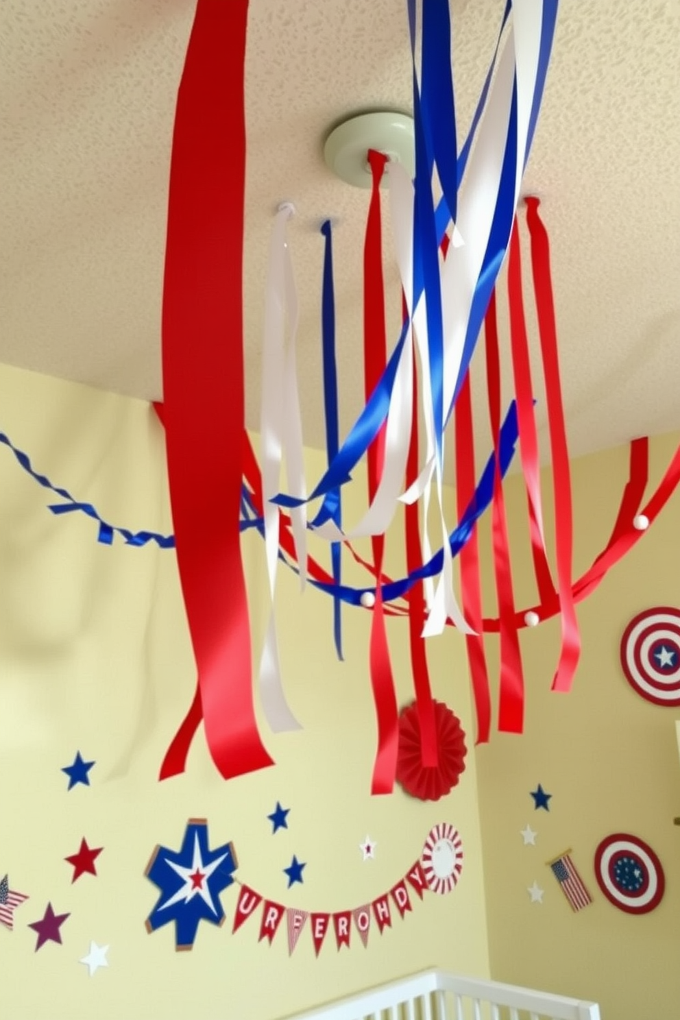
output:
M202 712L224 778L272 764L253 705L241 560L247 0L199 0L177 94L163 285L163 391L177 564L198 669L161 778ZM228 387L228 393L226 388Z

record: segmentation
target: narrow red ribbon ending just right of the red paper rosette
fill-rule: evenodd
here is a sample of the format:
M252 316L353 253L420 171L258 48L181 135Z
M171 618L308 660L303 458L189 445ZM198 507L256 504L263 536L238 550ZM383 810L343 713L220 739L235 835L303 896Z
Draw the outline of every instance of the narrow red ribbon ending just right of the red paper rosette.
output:
M465 376L455 406L456 415L456 505L458 519L470 504L475 492L475 455L472 428L470 372ZM477 525L459 553L463 613L475 631L465 635L470 678L477 716L477 744L486 744L491 728L491 695L484 655L481 622L481 585L479 580L479 542Z

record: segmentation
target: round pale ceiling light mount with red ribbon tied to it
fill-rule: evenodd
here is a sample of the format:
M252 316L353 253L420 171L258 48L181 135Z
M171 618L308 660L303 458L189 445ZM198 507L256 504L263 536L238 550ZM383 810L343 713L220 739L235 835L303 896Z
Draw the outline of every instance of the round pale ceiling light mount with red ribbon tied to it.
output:
M371 187L368 150L382 152L415 174L413 118L405 113L378 110L360 113L333 128L323 147L323 158L338 177L355 188Z

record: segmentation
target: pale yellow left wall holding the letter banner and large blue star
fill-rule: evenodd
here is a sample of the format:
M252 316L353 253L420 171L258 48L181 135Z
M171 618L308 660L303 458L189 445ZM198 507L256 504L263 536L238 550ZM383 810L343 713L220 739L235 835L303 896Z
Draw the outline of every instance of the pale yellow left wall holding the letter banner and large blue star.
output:
M162 430L147 405L3 367L0 429L112 523L170 530ZM338 664L329 600L313 591L301 598L282 569L281 658L304 731L267 734L276 766L223 782L200 730L188 772L159 784L162 755L195 682L174 556L120 541L98 545L91 520L54 517L51 501L0 448L0 877L8 871L11 885L31 897L16 911L15 930L0 927L2 1017L264 1020L431 965L485 975L473 756L460 787L439 804L400 789L369 796L368 614L346 611L347 661ZM393 547L401 544L398 538ZM258 645L260 539L250 534L244 549ZM404 703L412 697L404 621L390 623L389 639ZM449 633L431 645L430 662L435 694L469 728L460 639ZM66 793L60 769L76 749L97 765L91 787ZM266 815L276 800L292 812L289 829L272 836ZM187 819L202 816L213 846L233 842L243 881L303 909L351 908L385 891L440 820L460 829L465 866L452 896L416 903L381 937L372 931L366 950L355 936L338 955L329 934L316 960L306 931L289 959L282 927L271 948L258 944L259 918L232 936L231 886L222 896L224 926L202 924L194 951L177 954L171 926L145 931L157 891L144 869L157 843L178 849ZM367 833L377 858L364 864L358 845ZM98 877L71 884L63 858L83 836L104 852ZM294 853L308 864L304 885L289 896L281 869ZM35 953L28 924L48 900L71 916L63 946ZM91 939L110 945L110 966L89 978L79 960Z

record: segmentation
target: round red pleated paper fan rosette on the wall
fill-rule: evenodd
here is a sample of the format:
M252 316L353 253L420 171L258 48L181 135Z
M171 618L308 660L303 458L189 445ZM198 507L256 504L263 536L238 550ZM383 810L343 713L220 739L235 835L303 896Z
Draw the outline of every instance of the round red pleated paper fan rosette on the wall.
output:
M424 768L416 703L402 709L399 719L397 781L420 801L438 801L455 786L465 770L465 731L448 705L435 701L434 725L438 752L436 768Z

